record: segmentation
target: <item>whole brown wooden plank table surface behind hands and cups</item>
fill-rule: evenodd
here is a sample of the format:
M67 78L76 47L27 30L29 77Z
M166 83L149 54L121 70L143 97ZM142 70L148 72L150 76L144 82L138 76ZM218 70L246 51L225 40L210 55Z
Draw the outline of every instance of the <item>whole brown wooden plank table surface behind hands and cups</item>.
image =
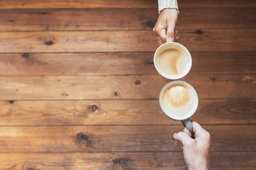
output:
M256 169L256 1L178 5L211 169ZM0 169L186 169L159 107L157 6L0 1Z

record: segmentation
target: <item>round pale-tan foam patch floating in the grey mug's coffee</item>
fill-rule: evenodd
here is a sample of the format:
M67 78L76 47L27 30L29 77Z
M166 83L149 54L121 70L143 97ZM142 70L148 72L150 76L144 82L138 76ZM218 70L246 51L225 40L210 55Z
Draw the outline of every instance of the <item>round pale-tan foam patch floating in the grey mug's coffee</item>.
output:
M186 87L173 86L169 89L168 101L174 107L185 106L190 100L190 93Z

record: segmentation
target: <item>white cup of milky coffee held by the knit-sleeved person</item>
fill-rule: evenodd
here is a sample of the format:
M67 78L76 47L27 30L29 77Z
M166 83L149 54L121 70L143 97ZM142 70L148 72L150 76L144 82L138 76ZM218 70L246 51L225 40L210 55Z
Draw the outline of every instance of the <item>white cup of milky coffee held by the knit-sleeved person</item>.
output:
M166 81L181 79L191 69L191 54L178 42L166 42L154 53L154 66Z

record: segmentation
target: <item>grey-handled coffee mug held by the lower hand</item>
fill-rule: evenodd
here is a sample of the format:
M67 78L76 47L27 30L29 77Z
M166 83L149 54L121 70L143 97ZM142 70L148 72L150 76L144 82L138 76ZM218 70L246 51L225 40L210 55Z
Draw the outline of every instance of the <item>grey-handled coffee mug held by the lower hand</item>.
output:
M161 89L159 104L165 115L173 120L181 120L193 135L193 125L189 118L198 108L198 94L193 86L185 81L169 82Z

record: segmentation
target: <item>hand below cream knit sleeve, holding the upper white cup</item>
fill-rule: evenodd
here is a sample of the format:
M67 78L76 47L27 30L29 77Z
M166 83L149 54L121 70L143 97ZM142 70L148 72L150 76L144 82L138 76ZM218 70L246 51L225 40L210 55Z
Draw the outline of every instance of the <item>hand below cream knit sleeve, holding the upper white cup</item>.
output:
M175 31L177 21L178 11L175 8L165 8L159 13L156 26L153 28L159 45L166 42L166 40L167 42L174 42L178 40L178 30Z

